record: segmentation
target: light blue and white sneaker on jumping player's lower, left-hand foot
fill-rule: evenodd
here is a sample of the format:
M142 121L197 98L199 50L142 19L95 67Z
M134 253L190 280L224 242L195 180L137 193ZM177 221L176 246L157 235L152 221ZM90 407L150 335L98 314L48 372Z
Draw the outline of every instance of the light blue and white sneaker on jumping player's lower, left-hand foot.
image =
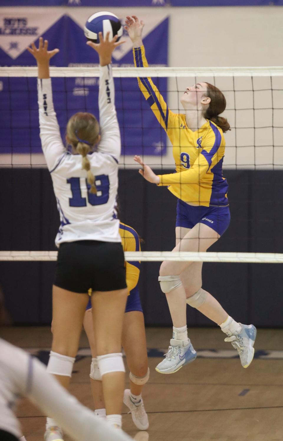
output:
M160 374L174 374L174 372L177 372L182 366L191 363L196 358L197 352L194 350L190 339L188 340L188 344L184 346L183 341L171 338L165 359L156 366L155 370L160 372Z

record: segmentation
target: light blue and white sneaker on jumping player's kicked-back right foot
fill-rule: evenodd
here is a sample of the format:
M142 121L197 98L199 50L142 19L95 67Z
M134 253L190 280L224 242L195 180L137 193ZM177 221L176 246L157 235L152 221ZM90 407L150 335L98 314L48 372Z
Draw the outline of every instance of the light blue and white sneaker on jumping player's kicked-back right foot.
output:
M243 367L248 367L253 361L254 342L257 336L257 329L253 325L242 325L242 332L225 338L230 341L233 348L237 349ZM228 334L227 334L228 335Z

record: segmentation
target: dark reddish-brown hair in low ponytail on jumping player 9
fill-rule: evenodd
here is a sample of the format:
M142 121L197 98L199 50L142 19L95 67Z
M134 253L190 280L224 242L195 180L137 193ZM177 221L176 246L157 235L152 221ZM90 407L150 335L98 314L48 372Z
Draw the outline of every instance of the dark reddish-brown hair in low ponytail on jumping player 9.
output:
M220 127L222 131L225 133L230 129L230 124L228 123L226 118L219 116L220 113L224 112L226 108L226 99L217 87L213 86L210 83L207 84L207 92L206 96L211 99L209 103L209 108L206 109L204 117L212 123L215 123L216 126Z

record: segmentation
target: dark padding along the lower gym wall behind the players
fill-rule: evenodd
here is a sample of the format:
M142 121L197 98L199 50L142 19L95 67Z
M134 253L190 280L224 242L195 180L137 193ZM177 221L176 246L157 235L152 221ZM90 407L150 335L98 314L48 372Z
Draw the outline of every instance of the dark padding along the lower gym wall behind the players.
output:
M214 251L282 252L281 171L227 170L231 224ZM46 169L1 169L1 250L55 250L59 215ZM121 220L144 239L143 250L171 250L176 198L145 182L134 170L119 172ZM15 324L51 321L55 262L0 262L0 284ZM143 263L139 283L147 325L171 325L157 282L159 263ZM283 271L280 264L205 263L203 288L238 321L281 327ZM189 325L213 325L188 308Z

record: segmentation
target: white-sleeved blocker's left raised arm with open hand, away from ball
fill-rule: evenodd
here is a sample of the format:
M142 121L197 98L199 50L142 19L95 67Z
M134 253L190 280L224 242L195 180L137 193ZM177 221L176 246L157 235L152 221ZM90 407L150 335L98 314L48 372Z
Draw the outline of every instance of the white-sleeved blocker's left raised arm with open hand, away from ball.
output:
M52 51L48 51L47 49L48 41L45 40L43 44L42 37L39 39L38 49L34 43L32 43L31 49L27 48L37 60L40 138L48 170L52 172L66 153L66 149L63 146L56 112L53 106L52 85L49 75L49 60L59 52L59 49L53 49Z

